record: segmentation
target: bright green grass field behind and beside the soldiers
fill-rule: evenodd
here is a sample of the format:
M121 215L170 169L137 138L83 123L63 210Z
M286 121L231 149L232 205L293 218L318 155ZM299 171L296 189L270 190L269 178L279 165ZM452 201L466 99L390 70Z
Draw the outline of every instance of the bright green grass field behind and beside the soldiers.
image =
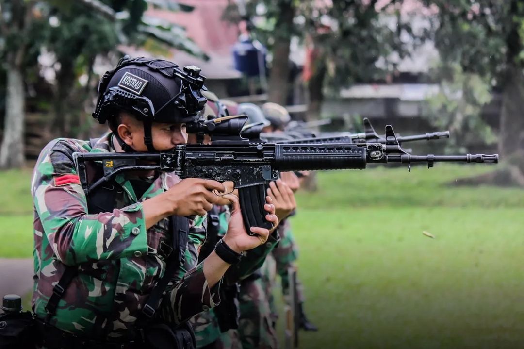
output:
M490 169L320 173L292 219L321 328L300 347L522 347L524 190L446 185ZM0 173L0 257L31 256L29 181Z

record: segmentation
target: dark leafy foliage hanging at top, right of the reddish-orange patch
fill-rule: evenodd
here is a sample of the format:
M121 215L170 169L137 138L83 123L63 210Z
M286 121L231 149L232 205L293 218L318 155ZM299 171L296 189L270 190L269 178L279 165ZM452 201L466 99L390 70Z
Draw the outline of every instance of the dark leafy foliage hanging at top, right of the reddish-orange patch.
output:
M333 6L325 9L325 14L320 12L316 18L315 10L311 12L313 17L308 18L316 22L311 28L313 30L317 30L324 16L332 19L331 30L319 39L322 47L328 50L328 67L331 69L328 70L327 85L332 91L354 82L383 79L387 72L394 70L391 54L396 52L399 57L405 56L407 52L400 34L409 30L409 26L402 23L398 10L392 11L396 3L391 1L378 11L376 1L366 5L339 1L333 2ZM394 19L396 25L390 27L387 24L389 19Z

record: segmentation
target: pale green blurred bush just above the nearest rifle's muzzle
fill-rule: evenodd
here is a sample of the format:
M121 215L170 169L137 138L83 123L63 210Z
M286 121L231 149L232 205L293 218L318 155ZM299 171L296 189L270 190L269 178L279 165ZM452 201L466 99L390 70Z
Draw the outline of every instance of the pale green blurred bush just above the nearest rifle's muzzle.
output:
M459 64L441 65L433 73L439 91L428 96L429 113L433 126L449 129L453 135L446 142L447 152L466 152L464 145L494 144L497 140L492 128L481 118L483 106L492 99L489 81L475 73L465 73Z

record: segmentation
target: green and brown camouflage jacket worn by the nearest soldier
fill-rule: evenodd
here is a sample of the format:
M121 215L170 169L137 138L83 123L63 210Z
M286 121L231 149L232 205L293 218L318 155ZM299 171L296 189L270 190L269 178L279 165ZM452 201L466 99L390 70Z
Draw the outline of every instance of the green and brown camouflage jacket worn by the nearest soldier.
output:
M79 335L93 336L95 323L102 323L108 337L131 334L141 307L166 269L167 257L159 247L170 241L169 220L146 230L141 202L165 192L180 178L161 173L137 198L128 175L119 174L114 210L87 212L72 153L112 152L111 138L107 134L94 145L75 139L51 141L39 156L31 184L35 211L32 306L39 318L45 318L45 306L65 267L78 266L78 275L60 300L51 324ZM92 171L88 168L88 177ZM170 282L165 298L170 302L162 303L177 323L220 301L218 284L210 289L202 264L196 262L205 238L203 220L190 221L185 261Z

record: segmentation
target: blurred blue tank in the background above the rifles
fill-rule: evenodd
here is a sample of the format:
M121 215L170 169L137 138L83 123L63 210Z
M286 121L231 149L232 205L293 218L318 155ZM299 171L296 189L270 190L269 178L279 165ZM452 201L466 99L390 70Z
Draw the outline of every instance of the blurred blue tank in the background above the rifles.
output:
M233 46L233 61L235 69L247 75L256 77L266 74L267 50L259 41L245 39L240 40Z

